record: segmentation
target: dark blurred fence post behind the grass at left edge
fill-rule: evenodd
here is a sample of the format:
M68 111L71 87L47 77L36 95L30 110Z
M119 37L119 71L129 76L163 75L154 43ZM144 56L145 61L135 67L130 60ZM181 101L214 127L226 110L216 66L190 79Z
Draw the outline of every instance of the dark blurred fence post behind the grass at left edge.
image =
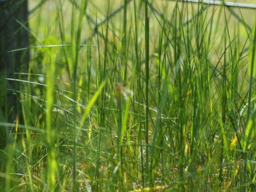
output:
M28 1L27 0L2 0L0 1L0 75L15 79L15 72L25 72L28 69L29 50L15 51L29 47L28 26ZM19 90L18 82L9 80L7 88ZM17 102L18 94L6 91L7 101L1 101L1 110L6 112L5 117L13 122L20 114ZM7 106L4 106L5 105ZM10 112L12 110L12 112ZM7 114L10 115L7 115Z

